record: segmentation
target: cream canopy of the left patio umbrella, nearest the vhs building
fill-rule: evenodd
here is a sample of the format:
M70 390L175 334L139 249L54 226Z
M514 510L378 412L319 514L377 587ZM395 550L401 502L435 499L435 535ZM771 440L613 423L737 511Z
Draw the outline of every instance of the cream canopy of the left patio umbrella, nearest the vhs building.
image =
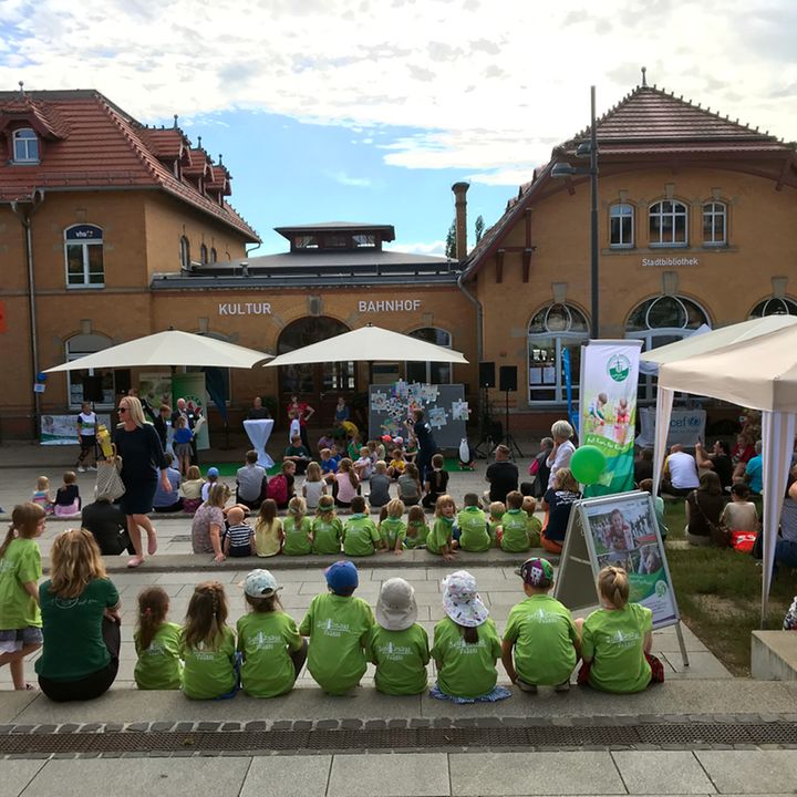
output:
M120 343L77 360L48 369L45 373L83 369L121 369L155 365L250 369L272 356L207 335L167 330Z

